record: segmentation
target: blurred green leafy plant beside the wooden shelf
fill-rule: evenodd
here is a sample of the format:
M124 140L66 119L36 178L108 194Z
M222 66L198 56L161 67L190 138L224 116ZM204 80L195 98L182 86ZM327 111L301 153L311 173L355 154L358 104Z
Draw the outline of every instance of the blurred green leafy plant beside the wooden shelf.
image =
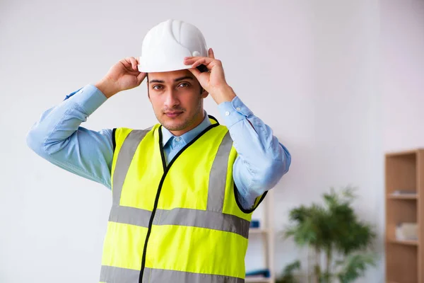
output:
M308 282L353 282L375 265L372 243L375 232L370 224L360 221L351 204L355 199L352 187L322 195L324 204L301 205L290 211L290 224L283 238L293 238L300 248L312 253L308 264ZM308 260L309 261L309 260ZM285 267L278 283L300 282L301 262Z

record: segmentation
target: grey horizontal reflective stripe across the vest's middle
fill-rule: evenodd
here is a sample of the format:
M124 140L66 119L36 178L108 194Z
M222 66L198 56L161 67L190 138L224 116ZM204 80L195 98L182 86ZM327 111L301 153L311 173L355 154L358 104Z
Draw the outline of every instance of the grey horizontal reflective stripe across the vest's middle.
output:
M153 219L153 225L193 226L249 236L249 221L235 215L184 208L156 209L156 214L158 217ZM112 207L109 221L147 228L150 217L151 212L145 209Z

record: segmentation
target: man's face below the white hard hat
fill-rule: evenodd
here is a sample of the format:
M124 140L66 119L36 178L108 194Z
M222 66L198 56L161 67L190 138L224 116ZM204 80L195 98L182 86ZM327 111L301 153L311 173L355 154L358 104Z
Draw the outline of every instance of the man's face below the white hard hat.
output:
M148 96L156 118L172 134L184 134L204 119L208 93L188 70L149 73Z

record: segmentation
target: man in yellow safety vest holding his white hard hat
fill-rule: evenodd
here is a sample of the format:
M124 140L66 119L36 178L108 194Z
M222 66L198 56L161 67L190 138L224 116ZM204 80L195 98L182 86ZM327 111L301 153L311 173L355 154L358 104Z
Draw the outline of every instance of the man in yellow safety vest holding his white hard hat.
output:
M159 123L80 127L108 98L146 79ZM210 94L225 126L206 114ZM252 212L288 171L290 154L225 81L201 32L165 21L142 56L47 110L28 145L112 189L100 282L244 282Z

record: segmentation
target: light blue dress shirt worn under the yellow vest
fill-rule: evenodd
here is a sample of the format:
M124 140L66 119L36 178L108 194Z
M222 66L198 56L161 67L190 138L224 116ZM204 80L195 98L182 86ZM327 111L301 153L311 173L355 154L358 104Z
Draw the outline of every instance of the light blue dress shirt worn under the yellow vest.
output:
M111 188L112 129L94 131L81 127L106 100L91 84L71 93L59 105L42 113L28 132L28 146L54 165ZM288 172L291 156L273 136L271 128L253 115L238 96L231 102L220 103L218 110L223 117L220 124L228 127L238 154L233 166L237 197L242 207L249 209L257 197ZM205 111L204 121L180 137L162 127L167 163L208 125L211 122Z

